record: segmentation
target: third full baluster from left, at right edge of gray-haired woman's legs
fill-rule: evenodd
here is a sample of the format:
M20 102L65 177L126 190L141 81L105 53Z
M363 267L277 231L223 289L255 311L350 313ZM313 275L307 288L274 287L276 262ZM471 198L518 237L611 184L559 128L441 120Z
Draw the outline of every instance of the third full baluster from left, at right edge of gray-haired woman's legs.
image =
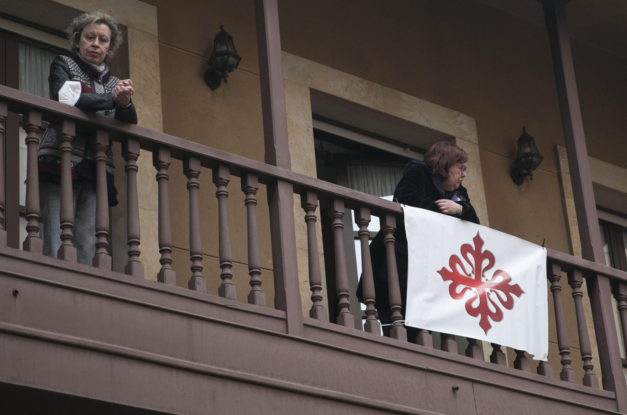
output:
M96 253L92 265L101 270L111 270L109 246L109 197L107 192L107 145L109 134L105 130L96 130L93 160L96 163Z

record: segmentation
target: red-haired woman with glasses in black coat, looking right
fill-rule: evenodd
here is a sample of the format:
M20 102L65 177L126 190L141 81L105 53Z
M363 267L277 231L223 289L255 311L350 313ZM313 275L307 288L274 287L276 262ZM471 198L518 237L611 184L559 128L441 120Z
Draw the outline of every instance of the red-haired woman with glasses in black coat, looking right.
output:
M468 154L450 142L442 141L432 145L424 155L423 161L412 160L405 166L403 176L394 189L394 201L478 224L477 213L470 204L466 188L461 184L466 177L464 164L466 161L468 161ZM424 235L424 238L429 237L429 235ZM383 325L383 334L389 336L390 326L386 324L392 323L392 313L387 289L387 258L383 238L383 232L379 231L372 239L370 255L376 308ZM401 313L404 316L407 304L408 255L407 235L403 221L396 223L394 238L396 238L396 266L403 306ZM357 298L364 302L361 280L357 288ZM414 343L418 329L406 328L409 342Z

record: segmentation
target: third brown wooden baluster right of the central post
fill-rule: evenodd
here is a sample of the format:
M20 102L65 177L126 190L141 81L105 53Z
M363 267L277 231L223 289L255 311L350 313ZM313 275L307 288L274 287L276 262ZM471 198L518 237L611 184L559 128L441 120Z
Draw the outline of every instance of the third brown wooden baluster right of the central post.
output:
M364 292L364 303L366 304L366 323L364 323L364 332L372 334L381 334L381 323L377 321L377 309L374 308L374 278L372 276L372 263L370 260L370 231L368 224L370 223L370 208L367 206L359 206L355 210L355 223L359 226L359 242L361 244L361 278L362 289Z

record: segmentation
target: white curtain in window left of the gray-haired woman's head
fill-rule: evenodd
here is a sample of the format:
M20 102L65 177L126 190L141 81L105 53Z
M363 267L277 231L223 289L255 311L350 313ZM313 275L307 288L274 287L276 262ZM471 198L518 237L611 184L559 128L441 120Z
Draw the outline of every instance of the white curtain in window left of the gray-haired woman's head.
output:
M19 90L50 98L48 75L57 53L20 41L18 44Z

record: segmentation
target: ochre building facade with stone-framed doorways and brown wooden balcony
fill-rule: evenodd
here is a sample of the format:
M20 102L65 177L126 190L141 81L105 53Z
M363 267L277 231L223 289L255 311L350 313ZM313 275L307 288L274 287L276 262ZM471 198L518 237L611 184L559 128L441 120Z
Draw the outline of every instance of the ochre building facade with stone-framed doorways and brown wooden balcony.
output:
M67 47L61 32L93 9L125 26L111 67L134 81L139 118L133 129L65 112L76 128L92 122L90 129L113 140L120 204L107 213L112 265L105 270L16 249L33 200L23 184L26 126L36 113L43 121L63 113L30 100L45 92L29 76L40 73L45 83L46 56ZM29 362L4 376L0 370L6 393L130 412L627 413L622 6L28 0L6 2L0 13L0 103L8 105L0 278L9 293L0 306L1 341L10 350L5 364ZM242 60L228 83L210 90L203 74L220 24ZM544 159L533 181L516 186L510 171L522 127ZM366 314L354 295L362 271L355 218L372 213L381 227L402 220L379 197L391 194L409 159L442 140L470 157L465 186L482 224L544 244L550 265L561 267L549 266L547 281L554 372L489 344L466 352L468 340L453 346L434 335L427 350L363 330ZM125 150L137 159L131 193ZM159 163L169 173L161 193ZM18 170L22 176L12 173ZM168 201L166 241L159 215ZM315 222L305 221L307 209ZM124 276L137 224L143 275L135 277L142 278ZM164 246L176 278L160 285ZM188 290L199 258L200 293ZM263 304L258 295L251 300L257 270ZM350 324L337 319L344 289ZM322 298L314 301L318 290Z

